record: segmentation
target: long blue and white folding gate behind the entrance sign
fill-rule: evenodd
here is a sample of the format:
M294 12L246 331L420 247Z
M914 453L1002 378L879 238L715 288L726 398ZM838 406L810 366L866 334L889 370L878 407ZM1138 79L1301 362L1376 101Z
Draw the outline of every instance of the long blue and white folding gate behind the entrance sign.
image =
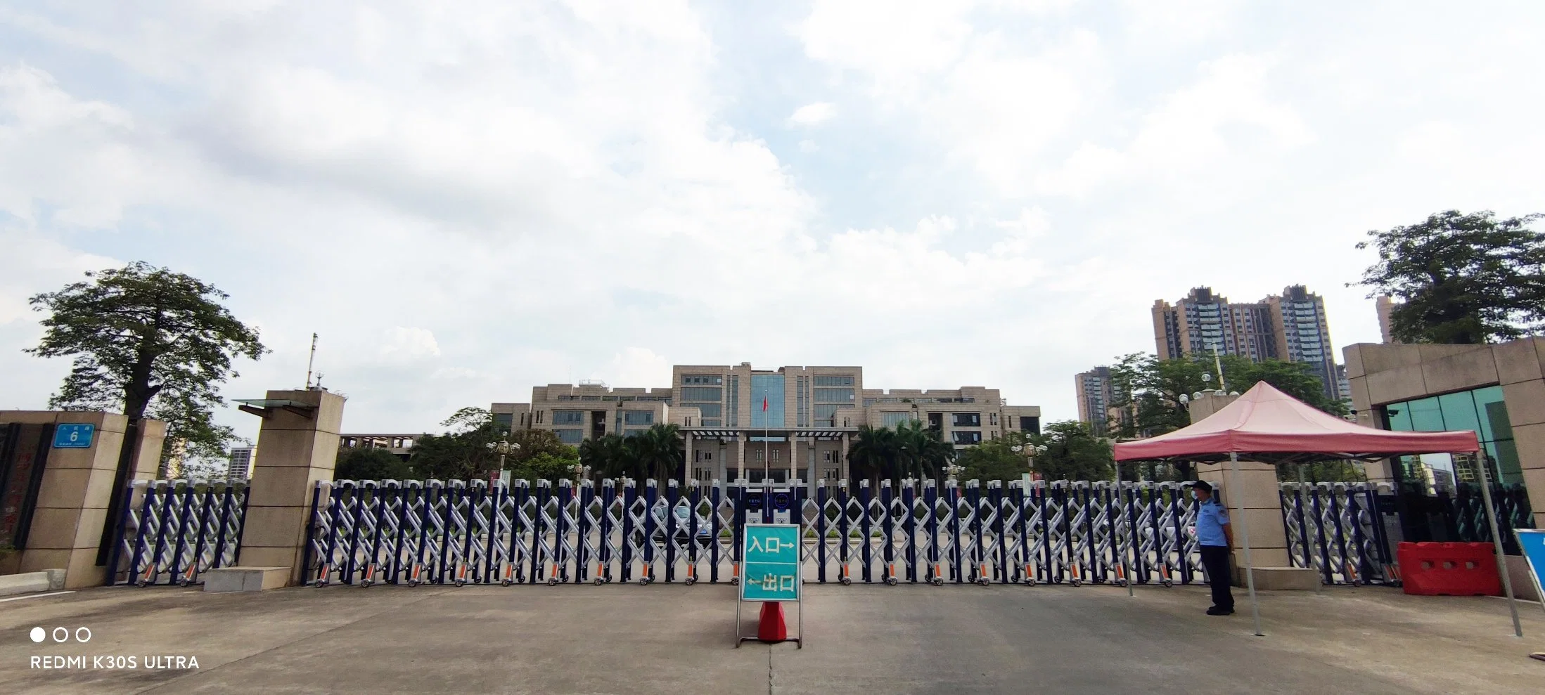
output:
M307 584L737 582L740 528L797 520L810 582L1205 581L1182 483L317 483ZM772 510L780 497L788 510ZM760 519L759 519L760 516Z

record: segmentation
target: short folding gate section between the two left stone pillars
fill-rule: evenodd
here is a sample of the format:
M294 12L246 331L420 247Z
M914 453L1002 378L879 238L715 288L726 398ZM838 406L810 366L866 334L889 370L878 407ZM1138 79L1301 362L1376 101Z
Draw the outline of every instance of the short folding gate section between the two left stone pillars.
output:
M108 584L199 584L236 564L246 480L134 480L122 494Z

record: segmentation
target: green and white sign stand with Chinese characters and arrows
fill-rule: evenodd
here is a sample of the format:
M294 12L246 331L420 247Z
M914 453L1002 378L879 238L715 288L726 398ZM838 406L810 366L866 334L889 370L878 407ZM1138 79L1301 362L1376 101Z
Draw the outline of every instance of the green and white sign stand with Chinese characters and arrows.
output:
M762 635L740 633L740 604L762 602L762 619L776 616L782 629L783 609L779 604L793 602L799 612L799 633L785 638L805 649L805 602L799 575L800 551L799 524L746 524L742 537L740 595L735 596L735 649L743 641L759 641ZM759 624L757 632L763 632ZM777 630L785 632L785 630ZM779 639L783 641L783 639Z

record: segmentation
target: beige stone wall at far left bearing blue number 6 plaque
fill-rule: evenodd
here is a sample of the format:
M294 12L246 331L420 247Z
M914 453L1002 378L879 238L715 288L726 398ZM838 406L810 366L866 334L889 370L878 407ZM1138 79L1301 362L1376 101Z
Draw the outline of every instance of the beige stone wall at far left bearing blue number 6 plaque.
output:
M128 419L100 411L0 411L0 423L9 422L96 426L90 448L48 449L26 548L14 561L14 570L63 568L66 588L104 584L108 568L97 565L96 558L104 525L116 524L108 517L108 505L114 494L122 493L113 480ZM131 480L156 477L165 432L165 423L159 420L145 420L141 426Z

